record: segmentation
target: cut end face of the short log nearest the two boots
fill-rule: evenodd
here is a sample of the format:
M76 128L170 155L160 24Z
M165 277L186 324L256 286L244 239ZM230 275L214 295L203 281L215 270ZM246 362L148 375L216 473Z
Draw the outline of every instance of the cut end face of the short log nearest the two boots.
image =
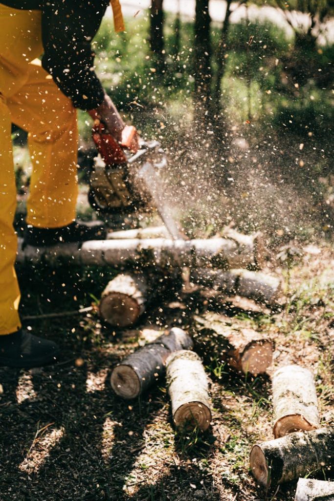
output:
M102 298L100 315L113 327L130 327L140 317L137 301L122 293L112 293Z

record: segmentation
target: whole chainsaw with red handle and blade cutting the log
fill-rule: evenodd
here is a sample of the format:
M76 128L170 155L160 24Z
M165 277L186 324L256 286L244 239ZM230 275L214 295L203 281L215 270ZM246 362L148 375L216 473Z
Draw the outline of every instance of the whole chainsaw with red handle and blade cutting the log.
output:
M99 120L94 122L92 137L98 156L90 172L88 199L98 215L119 224L122 218L156 209L172 238L183 238L160 177L167 164L160 143L137 140L133 126L125 126L118 142Z

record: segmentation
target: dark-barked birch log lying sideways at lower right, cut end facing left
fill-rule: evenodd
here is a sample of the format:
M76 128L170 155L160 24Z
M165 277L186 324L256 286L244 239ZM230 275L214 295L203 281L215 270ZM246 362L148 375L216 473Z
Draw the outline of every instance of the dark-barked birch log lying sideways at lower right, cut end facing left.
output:
M333 426L289 433L254 445L250 452L251 470L259 484L266 488L330 467L333 460Z

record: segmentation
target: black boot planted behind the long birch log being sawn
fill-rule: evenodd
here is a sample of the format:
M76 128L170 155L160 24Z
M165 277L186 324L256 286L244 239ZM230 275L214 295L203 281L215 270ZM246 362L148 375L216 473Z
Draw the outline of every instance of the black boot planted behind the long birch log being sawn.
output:
M107 231L102 223L82 223L74 221L59 228L38 228L28 224L25 230L24 246L44 247L58 243L84 242L86 240L103 240Z

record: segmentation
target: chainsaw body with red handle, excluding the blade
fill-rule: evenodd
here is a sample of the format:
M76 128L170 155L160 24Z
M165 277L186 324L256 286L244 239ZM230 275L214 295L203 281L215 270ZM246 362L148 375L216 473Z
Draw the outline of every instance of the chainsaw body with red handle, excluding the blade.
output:
M166 164L158 141L139 140L138 149L132 146L135 128L126 127L125 133L126 144L119 144L101 122L93 129L99 154L90 172L89 202L105 218L108 214L125 217L151 212L154 209L152 194L141 182L141 170L150 163L158 176Z

